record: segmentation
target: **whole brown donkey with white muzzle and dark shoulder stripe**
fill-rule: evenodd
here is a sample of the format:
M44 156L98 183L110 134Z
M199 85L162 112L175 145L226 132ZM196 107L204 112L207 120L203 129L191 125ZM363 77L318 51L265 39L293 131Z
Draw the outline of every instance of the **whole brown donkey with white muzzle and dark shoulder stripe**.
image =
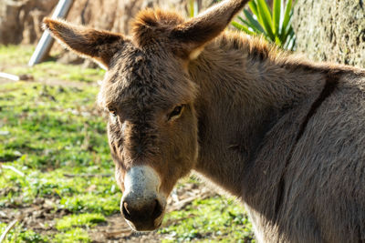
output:
M194 170L243 202L260 242L363 242L365 70L224 31L246 2L189 20L146 9L131 36L44 20L108 69L99 105L121 214L135 230L159 228Z

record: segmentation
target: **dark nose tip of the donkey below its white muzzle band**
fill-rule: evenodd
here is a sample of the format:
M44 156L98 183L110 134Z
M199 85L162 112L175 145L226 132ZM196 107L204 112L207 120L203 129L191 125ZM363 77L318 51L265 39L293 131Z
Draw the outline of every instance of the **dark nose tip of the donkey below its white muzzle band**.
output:
M136 198L123 198L120 211L125 219L138 231L149 231L159 228L162 222L163 207L157 198L136 201Z

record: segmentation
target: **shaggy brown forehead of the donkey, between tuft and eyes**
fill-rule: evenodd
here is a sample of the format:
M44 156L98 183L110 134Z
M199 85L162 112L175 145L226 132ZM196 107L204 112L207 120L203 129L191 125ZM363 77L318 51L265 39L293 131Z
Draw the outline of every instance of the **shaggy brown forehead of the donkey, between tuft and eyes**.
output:
M170 61L169 61L170 59ZM106 75L99 93L99 106L112 108L134 104L162 109L193 101L197 90L183 69L173 65L167 53L159 55L130 48ZM137 107L136 107L137 108Z

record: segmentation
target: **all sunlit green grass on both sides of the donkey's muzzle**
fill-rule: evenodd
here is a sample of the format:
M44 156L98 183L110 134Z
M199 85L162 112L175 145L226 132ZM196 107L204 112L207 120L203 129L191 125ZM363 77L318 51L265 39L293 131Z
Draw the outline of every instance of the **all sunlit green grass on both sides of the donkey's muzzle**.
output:
M0 46L1 71L30 72L36 81L78 80L79 85L0 84L0 162L26 175L0 170L0 211L11 209L16 215L41 198L57 216L50 232L17 223L5 242L89 242L89 228L120 210L106 118L95 105L95 81L104 71L53 62L28 67L32 52L31 46ZM224 197L195 200L167 214L163 226L158 230L163 242L252 241L245 209ZM5 227L0 219L0 235Z

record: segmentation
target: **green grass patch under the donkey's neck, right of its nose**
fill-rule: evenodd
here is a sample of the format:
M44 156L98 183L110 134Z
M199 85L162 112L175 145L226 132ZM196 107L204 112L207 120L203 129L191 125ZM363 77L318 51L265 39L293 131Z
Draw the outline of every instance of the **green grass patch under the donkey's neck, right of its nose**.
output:
M187 208L171 212L164 220L159 232L173 238L162 241L166 243L206 242L209 238L214 238L214 242L253 242L245 209L224 197L195 200Z

